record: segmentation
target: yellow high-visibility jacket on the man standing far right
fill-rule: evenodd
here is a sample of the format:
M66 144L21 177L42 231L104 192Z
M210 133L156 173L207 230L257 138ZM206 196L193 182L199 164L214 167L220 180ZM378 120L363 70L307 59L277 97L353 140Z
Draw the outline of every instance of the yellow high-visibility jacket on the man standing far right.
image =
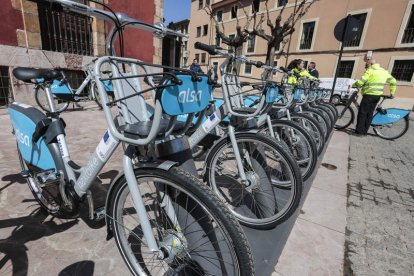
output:
M352 87L362 87L362 95L380 96L384 94L384 86L387 83L390 85L391 95L394 95L397 90L397 80L387 70L381 68L378 63L375 63L365 70L361 79L355 82Z

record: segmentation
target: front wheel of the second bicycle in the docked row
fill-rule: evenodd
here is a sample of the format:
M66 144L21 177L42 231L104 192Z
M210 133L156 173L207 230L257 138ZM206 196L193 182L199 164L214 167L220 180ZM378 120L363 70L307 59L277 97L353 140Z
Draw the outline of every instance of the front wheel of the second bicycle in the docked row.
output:
M299 206L303 184L299 167L294 157L272 138L249 132L235 135L249 185L240 182L236 162L226 157L227 152L234 155L229 137L221 138L209 151L206 181L241 224L272 229ZM219 160L221 156L224 159ZM224 174L225 170L231 174Z

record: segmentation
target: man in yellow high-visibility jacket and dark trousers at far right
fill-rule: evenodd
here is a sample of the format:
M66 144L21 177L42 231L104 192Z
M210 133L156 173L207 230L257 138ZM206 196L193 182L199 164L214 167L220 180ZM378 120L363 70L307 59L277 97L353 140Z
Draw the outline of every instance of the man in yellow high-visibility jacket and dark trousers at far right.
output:
M361 87L362 101L355 128L355 132L360 135L368 132L380 96L384 94L385 84L389 84L391 96L394 96L397 89L397 80L387 70L381 68L375 60L365 61L364 75L352 85L353 88Z

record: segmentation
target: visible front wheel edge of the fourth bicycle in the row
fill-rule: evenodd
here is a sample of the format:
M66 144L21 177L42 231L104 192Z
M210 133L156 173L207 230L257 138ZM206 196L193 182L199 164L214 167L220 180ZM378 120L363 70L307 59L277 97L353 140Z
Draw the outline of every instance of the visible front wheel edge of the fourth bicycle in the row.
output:
M318 149L318 155L320 155L325 146L325 138L323 130L319 125L318 121L315 120L312 116L309 116L304 113L294 113L290 115L290 118L293 122L303 126L303 128L308 131L316 143Z

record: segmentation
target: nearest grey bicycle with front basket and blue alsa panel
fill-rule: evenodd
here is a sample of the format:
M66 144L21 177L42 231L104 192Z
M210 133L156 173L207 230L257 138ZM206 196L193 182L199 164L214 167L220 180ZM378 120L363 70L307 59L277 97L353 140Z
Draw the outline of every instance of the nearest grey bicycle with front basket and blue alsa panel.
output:
M90 14L96 11L76 3L76 8L79 7ZM98 14L103 13L115 23L116 18L123 17L124 23L133 22L138 29L180 35L160 26L126 19L125 15L105 11ZM119 26L115 24L114 28ZM83 167L70 158L65 124L53 101L51 86L62 78L61 73L15 68L13 74L21 81L43 80L41 85L50 108L46 116L25 104L15 102L9 106L21 175L27 179L38 203L53 216L77 217L80 202L86 200L90 218L106 219L108 237L114 236L124 261L135 275L253 275L250 248L234 216L207 186L157 150L163 146L169 148L169 143L185 145L185 136L169 138L171 133L185 132L189 124L177 124L163 114L171 111L172 99L182 108L175 110L177 115L193 117L204 110L208 100L203 98L196 105L180 102L179 92L203 87L208 95L211 93L208 78L193 79L182 72L158 73L168 78L165 79L168 84L154 87L158 97L154 99L154 113L150 117L142 94L154 88L140 87L144 77L154 74L138 74L138 69L146 72L147 66L135 59L111 56L95 61L94 80L109 127ZM111 68L111 77L105 77L106 68ZM111 102L103 83L106 80L114 85ZM137 108L137 103L144 110ZM115 117L112 108L119 111ZM105 207L95 209L89 187L121 143L124 173L112 182Z

